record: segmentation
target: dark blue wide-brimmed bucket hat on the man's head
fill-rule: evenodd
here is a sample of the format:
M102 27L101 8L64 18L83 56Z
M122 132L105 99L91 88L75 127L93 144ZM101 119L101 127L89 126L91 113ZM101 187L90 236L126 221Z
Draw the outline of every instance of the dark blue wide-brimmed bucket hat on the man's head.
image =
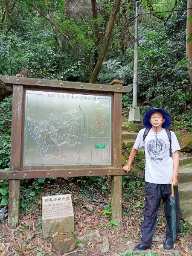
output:
M148 110L145 113L145 117L143 118L143 125L145 125L145 127L147 128L151 128L152 125L149 122L150 116L152 113L154 113L155 111L159 111L163 114L163 118L165 119L165 122L162 124L162 128L168 128L171 125L171 116L169 115L169 113L167 113L166 111L164 111L163 108L153 108Z

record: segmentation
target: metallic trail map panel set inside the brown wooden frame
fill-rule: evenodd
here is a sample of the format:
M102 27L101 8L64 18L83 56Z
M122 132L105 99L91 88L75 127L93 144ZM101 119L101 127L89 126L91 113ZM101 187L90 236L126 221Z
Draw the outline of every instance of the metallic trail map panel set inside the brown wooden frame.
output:
M111 164L111 97L26 90L23 165L86 164Z

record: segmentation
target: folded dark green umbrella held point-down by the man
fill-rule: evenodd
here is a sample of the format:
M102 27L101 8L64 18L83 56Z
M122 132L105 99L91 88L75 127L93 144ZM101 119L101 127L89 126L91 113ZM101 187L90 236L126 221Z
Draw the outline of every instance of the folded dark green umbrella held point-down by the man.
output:
M172 238L173 238L173 248L175 250L175 241L176 241L176 211L175 211L175 195L174 195L174 188L172 182L172 194L170 197L170 204L171 204L171 218L172 218Z

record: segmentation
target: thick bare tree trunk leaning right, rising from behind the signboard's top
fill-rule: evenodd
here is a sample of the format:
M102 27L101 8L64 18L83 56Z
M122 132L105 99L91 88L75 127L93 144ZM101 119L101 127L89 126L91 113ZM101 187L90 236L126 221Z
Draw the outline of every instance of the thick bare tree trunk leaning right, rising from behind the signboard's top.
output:
M107 52L107 48L108 48L108 45L109 45L109 39L111 37L112 29L113 29L113 26L114 26L114 23L115 23L115 20L116 20L116 15L119 11L120 2L121 2L121 0L115 0L114 1L113 8L111 10L111 16L110 16L108 26L107 26L107 30L106 30L106 34L105 34L105 39L104 39L105 43L102 46L102 50L99 54L98 61L97 61L96 66L93 70L93 73L91 75L91 78L90 78L90 81L89 81L90 83L94 84L96 82L99 71L101 70L102 63L103 63L103 60L105 58L105 54Z

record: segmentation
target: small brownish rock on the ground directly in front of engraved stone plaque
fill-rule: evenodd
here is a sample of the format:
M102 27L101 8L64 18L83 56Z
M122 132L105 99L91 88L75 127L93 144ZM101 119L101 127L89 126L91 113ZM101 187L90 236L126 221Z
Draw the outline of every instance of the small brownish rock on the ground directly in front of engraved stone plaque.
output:
M54 236L52 238L52 247L61 254L74 250L76 247L75 235L68 233L65 235L59 234Z

